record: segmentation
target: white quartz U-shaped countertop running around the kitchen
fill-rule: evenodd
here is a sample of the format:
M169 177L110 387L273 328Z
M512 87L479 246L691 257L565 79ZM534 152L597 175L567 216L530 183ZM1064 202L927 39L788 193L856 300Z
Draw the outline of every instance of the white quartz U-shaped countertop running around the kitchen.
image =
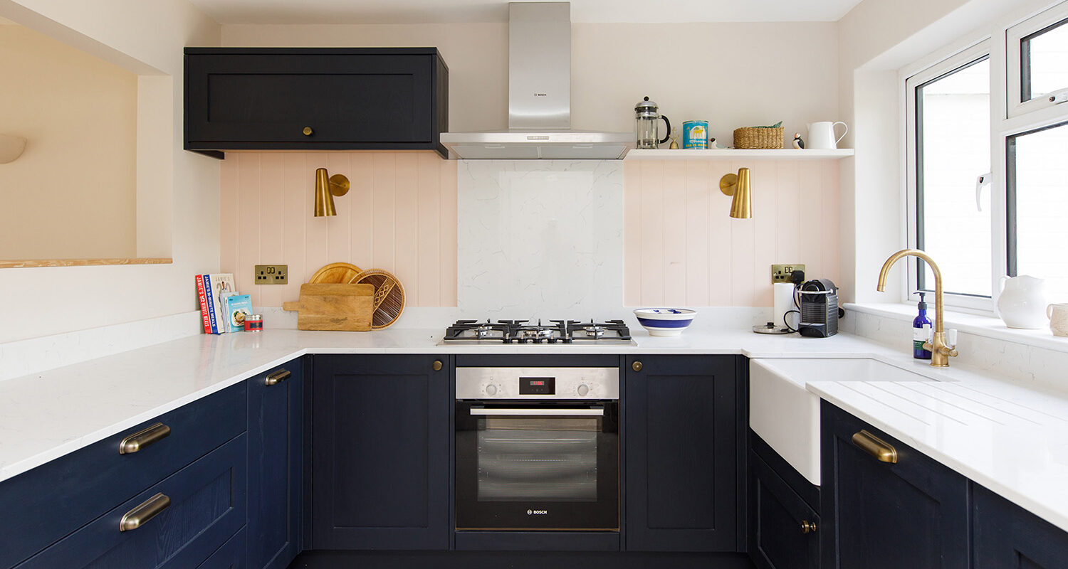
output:
M441 334L440 328L201 334L0 381L0 480L307 353L735 353L921 365L848 334L805 338L694 328L651 337L632 329L638 346L591 347L438 346ZM1068 531L1068 396L960 368L947 374L954 381L921 391L827 381L806 389ZM899 392L875 392L886 389Z

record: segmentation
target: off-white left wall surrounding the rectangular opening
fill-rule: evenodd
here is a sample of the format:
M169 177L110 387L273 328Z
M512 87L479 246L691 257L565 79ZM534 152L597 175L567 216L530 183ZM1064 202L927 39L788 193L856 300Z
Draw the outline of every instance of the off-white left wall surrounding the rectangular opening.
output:
M182 149L182 48L218 44L219 26L185 0L0 0L0 17L153 75L139 82L157 102L152 116L139 118L139 130L153 124L169 141L152 175L173 189L155 196L162 204L155 211L164 214L153 222L173 225L174 258L157 266L0 269L6 300L0 342L197 310L192 275L219 269L219 163Z

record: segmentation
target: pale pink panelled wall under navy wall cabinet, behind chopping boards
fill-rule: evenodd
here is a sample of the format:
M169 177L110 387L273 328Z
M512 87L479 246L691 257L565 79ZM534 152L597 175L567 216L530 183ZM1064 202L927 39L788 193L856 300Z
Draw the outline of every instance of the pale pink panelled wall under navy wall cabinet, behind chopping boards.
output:
M337 216L312 216L315 169L344 174ZM456 305L456 161L433 152L226 153L221 269L256 306L297 300L321 266L393 272L409 306ZM288 265L289 284L253 284L254 265Z

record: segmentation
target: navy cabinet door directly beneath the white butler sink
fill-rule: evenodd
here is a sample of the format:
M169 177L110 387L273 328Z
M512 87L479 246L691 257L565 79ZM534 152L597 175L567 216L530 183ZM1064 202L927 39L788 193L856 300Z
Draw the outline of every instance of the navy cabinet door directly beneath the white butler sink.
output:
M758 569L818 569L819 487L750 431L749 551Z

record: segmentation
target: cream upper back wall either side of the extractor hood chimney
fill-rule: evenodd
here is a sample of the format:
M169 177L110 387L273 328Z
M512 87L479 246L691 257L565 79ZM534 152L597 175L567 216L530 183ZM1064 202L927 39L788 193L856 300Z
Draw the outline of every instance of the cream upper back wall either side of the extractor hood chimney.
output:
M507 38L504 23L222 27L224 46L436 46L449 64L453 131L507 127ZM778 121L804 132L837 111L836 26L571 26L572 128L631 131L646 95L678 126L708 120L720 140Z

